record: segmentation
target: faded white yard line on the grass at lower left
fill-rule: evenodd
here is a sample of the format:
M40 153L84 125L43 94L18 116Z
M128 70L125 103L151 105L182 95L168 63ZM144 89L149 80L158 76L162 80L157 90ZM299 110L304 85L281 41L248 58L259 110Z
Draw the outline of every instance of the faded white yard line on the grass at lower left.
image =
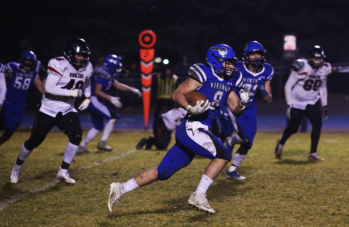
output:
M136 149L132 149L132 150L129 150L129 151L126 151L124 153L121 153L120 155L118 156L114 156L114 157L110 157L110 158L106 158L106 159L103 159L103 160L100 160L100 161L95 161L95 162L92 162L91 164L87 165L87 166L82 166L80 168L77 168L77 170L79 171L82 171L83 169L88 169L88 168L91 168L91 167L94 167L94 166L97 166L103 162L108 162L108 161L112 161L114 159L119 159L119 158L122 158L122 157L125 157L129 154L132 154L133 152L135 152ZM14 195L12 196L12 198L9 198L9 199L5 199L3 201L0 202L0 210L3 210L6 206L16 202L18 199L20 198L23 198L23 197L26 197L32 193L35 193L35 192L39 192L39 191L45 191L46 189L54 186L56 184L56 182L49 182L43 186L40 186L38 188L34 188L28 192L25 192L23 194L19 194L19 195Z

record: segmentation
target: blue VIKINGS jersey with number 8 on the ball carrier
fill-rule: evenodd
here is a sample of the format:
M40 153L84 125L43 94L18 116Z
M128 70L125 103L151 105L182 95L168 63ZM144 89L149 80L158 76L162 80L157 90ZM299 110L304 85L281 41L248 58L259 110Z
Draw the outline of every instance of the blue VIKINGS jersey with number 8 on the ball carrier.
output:
M217 76L212 68L203 64L192 65L188 74L191 78L202 84L196 91L204 94L211 105L204 113L190 116L189 118L187 115L186 119L200 121L202 124L207 125L210 130L212 120L216 117L218 109L224 106L223 104L227 101L230 91L234 87L243 84L242 74L239 73L237 80L233 78L224 80Z

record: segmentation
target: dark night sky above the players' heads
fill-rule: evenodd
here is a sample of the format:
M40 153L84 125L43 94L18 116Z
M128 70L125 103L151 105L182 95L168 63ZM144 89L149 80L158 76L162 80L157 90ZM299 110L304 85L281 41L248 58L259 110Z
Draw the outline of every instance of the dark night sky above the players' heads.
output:
M30 49L47 64L62 55L70 38L81 37L90 46L92 63L114 53L123 55L127 66L139 62L138 35L145 29L157 35L156 55L170 62L183 53L202 62L208 47L218 43L241 56L244 44L257 40L267 50L267 62L281 65L286 33L297 35L299 55L316 44L325 49L329 62L349 61L348 2L5 1L0 10L0 62L18 61Z

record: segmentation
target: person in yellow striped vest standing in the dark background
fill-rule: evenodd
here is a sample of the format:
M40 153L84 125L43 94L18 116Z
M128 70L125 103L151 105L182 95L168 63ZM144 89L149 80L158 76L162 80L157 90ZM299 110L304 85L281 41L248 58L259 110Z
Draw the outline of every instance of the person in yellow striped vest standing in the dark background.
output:
M153 91L155 97L154 120L162 113L173 109L174 102L171 100L171 94L176 90L178 84L178 76L173 74L171 67L166 66L161 73L153 79ZM155 93L156 92L156 93Z

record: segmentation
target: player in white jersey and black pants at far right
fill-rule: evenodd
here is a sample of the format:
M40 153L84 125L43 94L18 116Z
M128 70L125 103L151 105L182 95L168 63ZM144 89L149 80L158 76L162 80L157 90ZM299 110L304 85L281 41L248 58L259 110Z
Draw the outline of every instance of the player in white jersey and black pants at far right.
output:
M275 157L278 159L281 158L287 139L298 131L302 116L305 115L313 127L308 160L324 160L319 158L317 147L322 120L328 117L326 81L332 68L324 61L326 55L320 46L310 48L307 55L307 59L297 59L291 64L291 74L285 84L288 126L275 147Z

